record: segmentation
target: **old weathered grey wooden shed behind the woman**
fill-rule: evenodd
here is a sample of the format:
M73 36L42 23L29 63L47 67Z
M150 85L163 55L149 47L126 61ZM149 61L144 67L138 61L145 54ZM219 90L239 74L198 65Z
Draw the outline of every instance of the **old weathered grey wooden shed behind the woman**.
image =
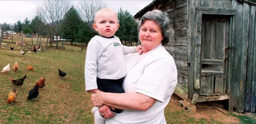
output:
M229 99L230 112L256 109L256 4L245 0L154 0L135 19L169 13L166 50L178 70L175 94L188 103Z

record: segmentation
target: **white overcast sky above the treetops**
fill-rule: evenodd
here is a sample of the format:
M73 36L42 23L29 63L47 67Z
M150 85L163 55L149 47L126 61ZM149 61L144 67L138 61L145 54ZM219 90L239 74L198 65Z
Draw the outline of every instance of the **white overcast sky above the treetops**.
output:
M123 10L128 10L132 15L135 15L141 9L146 7L153 0L104 0L107 6L114 11L118 11L120 7ZM35 10L38 5L42 4L42 0L0 0L0 23L14 24L19 19L21 22L25 18L32 20L36 15ZM77 0L72 0L73 4L78 4Z

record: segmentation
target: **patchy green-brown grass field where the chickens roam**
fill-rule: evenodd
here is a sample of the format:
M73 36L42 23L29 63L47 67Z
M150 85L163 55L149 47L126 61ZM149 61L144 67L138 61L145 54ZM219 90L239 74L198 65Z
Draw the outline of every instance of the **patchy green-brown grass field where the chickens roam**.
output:
M9 46L15 49L9 49ZM0 48L0 69L8 63L13 67L15 61L19 64L18 72L14 69L8 74L0 74L0 124L93 124L90 94L85 92L84 62L85 51L81 47L66 46L66 49L48 49L40 53L20 54L20 46L2 44ZM24 49L30 49L24 47ZM30 50L32 51L32 50ZM26 64L34 67L28 71ZM58 68L67 72L61 79ZM11 78L17 79L27 75L23 89L17 89L18 97L14 104L7 104L8 94L12 89ZM40 89L37 100L26 101L28 92L42 77L46 79L46 86ZM63 86L58 87L57 85ZM174 101L175 96L165 109L168 124L222 124L242 123L239 115L223 114L216 109L201 109L198 112L184 111ZM176 97L176 100L179 98ZM223 120L225 118L228 121ZM254 122L255 117L250 117ZM245 118L247 119L247 118Z

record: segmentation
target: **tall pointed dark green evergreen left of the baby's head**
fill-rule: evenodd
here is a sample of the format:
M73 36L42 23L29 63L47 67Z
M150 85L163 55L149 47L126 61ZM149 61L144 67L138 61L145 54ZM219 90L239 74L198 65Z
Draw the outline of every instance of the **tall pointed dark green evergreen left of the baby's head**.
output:
M77 10L72 6L63 19L63 25L61 27L63 32L62 37L74 41L79 30L79 25L82 23L83 21Z

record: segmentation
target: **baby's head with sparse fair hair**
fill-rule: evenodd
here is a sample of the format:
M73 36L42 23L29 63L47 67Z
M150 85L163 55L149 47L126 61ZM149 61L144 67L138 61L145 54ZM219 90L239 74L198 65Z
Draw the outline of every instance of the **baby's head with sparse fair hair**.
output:
M104 37L113 36L119 28L117 13L109 8L103 8L96 12L93 28Z

